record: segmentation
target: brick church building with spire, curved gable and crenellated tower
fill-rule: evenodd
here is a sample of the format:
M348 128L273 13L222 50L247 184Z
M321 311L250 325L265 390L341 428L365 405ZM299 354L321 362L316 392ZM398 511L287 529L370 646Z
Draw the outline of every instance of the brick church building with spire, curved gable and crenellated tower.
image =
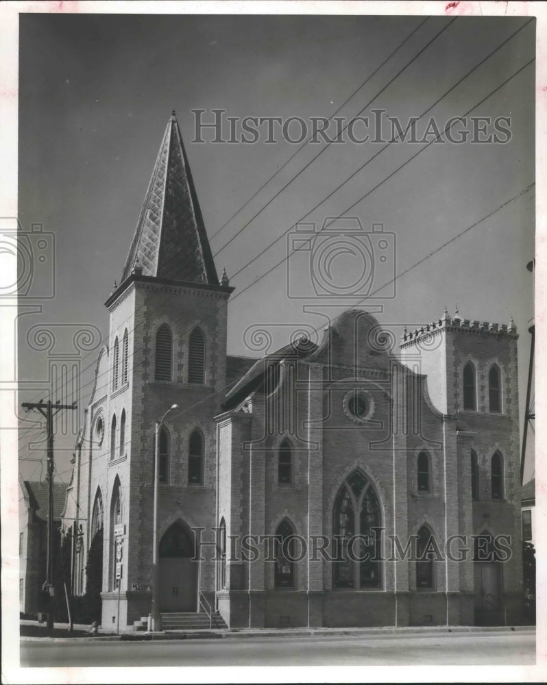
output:
M354 309L256 360L227 353L232 290L173 112L64 512L75 593L103 531L102 625L518 623L513 322L445 312L395 355Z

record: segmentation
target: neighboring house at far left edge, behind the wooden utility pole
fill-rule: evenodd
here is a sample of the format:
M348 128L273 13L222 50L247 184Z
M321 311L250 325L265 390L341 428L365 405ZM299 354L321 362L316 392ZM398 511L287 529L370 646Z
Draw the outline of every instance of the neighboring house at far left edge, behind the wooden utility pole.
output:
M53 528L62 523L66 485L53 484ZM41 610L40 591L46 580L47 482L19 478L19 611L35 614Z

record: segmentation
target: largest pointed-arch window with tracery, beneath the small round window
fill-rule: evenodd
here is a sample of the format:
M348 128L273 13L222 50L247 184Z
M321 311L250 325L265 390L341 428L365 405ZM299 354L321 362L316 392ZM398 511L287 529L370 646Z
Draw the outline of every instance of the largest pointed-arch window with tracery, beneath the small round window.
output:
M369 479L354 471L335 499L332 532L337 543L332 562L335 588L380 587L380 506Z

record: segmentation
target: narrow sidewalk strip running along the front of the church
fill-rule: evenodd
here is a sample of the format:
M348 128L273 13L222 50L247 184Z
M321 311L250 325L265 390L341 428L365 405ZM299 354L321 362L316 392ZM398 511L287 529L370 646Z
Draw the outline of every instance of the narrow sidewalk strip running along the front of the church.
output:
M114 634L112 631L106 631L99 626L99 634L95 637L87 634L88 625L80 623L74 624L74 632L77 635L70 636L68 623L55 623L54 629L56 636L48 636L47 627L45 623L38 623L38 621L20 621L21 626L36 626L38 629L44 631L43 636L21 636L21 640L51 640L51 641L66 641L77 640L79 642L86 640L96 642L97 640L206 640L206 639L245 639L245 638L295 638L298 636L340 636L340 635L354 635L354 636L381 636L381 635L403 635L403 634L439 634L439 633L472 633L472 632L535 632L535 625L496 625L496 626L477 626L477 625L431 625L420 627L370 627L370 628L232 628L228 629L212 629L212 630L167 630L165 632L143 632L132 630L132 628L121 630L120 634ZM58 631L66 631L66 636L62 636ZM33 631L34 632L34 631Z

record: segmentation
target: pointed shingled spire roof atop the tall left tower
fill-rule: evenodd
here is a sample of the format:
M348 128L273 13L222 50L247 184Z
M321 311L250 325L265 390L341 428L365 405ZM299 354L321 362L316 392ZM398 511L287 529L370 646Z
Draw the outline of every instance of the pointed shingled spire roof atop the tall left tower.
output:
M123 267L143 275L218 285L194 182L173 110Z

